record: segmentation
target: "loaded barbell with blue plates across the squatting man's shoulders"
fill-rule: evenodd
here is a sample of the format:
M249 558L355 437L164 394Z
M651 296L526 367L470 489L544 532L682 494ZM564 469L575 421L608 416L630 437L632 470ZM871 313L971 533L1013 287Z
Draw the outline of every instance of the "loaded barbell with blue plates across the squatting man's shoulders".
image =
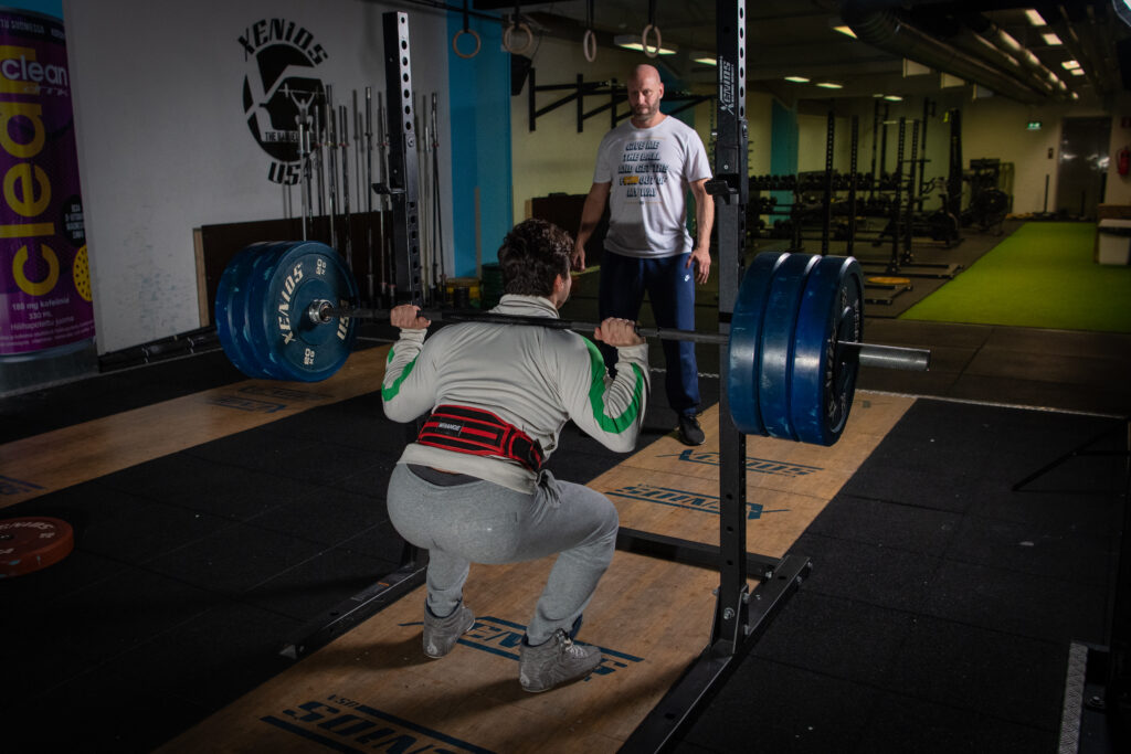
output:
M317 382L353 350L357 322L388 310L357 305L340 255L317 241L256 243L224 269L216 330L252 378ZM861 365L923 371L930 352L862 341L864 279L852 257L766 252L743 275L729 333L638 327L644 337L725 345L727 398L740 432L819 445L839 440ZM483 311L424 310L440 322L592 332L597 324Z

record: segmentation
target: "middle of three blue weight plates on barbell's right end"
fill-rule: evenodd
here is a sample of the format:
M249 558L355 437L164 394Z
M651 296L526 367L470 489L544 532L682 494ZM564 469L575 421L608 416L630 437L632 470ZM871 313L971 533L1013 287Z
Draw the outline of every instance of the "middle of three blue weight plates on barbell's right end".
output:
M820 259L811 254L789 254L770 281L762 323L758 407L766 434L771 437L797 439L789 410L794 336L805 279Z

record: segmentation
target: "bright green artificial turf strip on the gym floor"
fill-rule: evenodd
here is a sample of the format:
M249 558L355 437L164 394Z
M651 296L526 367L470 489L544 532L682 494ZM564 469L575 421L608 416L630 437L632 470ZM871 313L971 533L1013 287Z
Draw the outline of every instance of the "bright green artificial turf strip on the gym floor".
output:
M1094 261L1091 223L1026 223L899 319L1131 332L1131 267Z

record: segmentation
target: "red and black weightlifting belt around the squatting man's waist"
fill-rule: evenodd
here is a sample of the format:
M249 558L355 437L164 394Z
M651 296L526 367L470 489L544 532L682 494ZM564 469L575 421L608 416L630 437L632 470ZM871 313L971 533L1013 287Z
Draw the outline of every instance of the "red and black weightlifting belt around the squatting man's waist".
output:
M482 408L437 406L416 442L470 456L501 456L530 471L542 467L542 448L513 424Z

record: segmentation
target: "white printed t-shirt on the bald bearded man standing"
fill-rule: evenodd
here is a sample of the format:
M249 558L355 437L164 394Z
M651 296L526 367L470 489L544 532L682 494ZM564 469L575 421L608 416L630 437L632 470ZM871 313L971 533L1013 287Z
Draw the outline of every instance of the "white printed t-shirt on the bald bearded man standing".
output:
M673 257L691 251L687 194L710 177L702 139L666 116L651 128L631 119L611 130L597 149L594 183L608 183L605 249L625 257Z

